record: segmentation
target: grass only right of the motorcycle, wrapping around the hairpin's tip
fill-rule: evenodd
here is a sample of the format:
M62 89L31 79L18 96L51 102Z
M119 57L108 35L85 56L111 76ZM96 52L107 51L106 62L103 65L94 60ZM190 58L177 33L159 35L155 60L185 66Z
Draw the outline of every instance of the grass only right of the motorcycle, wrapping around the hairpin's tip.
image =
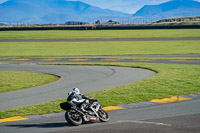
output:
M131 102L149 101L152 99L166 98L175 95L187 95L200 91L199 70L197 65L172 65L172 64L138 64L116 63L120 66L149 68L158 74L149 79L134 84L115 87L99 93L91 93L100 99L103 106L128 104Z

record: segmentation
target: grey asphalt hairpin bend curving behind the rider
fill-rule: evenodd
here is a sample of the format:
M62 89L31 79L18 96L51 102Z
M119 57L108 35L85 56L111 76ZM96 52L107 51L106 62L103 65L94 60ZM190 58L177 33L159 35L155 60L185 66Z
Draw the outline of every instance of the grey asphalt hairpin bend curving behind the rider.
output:
M111 66L16 65L0 64L1 71L27 71L58 75L47 85L0 93L0 110L66 98L74 87L83 94L133 83L156 73L146 69Z

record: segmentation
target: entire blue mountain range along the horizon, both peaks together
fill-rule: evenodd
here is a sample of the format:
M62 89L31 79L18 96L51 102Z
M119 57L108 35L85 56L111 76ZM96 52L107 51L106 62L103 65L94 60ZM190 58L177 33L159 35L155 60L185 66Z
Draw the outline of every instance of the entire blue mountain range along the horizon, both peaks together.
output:
M66 21L94 23L97 19L125 21L156 18L159 20L185 16L200 16L200 2L172 0L159 5L146 5L133 15L101 9L80 1L9 0L0 4L0 22L8 24L63 24Z

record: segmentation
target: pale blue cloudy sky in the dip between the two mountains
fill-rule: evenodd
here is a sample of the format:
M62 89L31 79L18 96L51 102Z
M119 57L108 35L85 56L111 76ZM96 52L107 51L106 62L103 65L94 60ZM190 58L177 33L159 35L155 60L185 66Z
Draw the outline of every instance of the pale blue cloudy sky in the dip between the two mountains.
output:
M8 0L0 0L3 3ZM111 9L119 12L133 14L142 8L144 5L157 5L170 0L68 0L82 1L92 6L97 6L103 9ZM195 0L199 1L200 0Z

